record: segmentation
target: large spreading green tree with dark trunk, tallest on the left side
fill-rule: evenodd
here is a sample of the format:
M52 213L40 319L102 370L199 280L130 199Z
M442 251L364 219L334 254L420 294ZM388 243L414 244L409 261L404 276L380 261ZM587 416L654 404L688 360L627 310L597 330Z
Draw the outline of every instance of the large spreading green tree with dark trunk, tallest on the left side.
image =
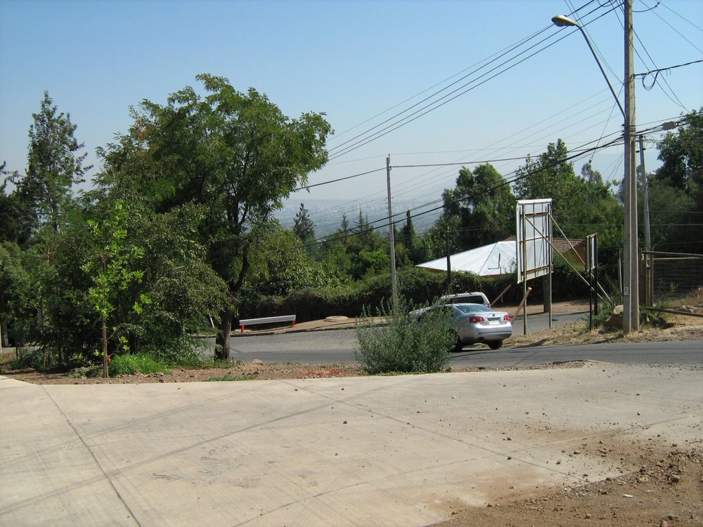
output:
M229 358L238 295L250 251L273 212L310 171L327 162L331 128L322 114L290 119L254 89L236 91L224 77L200 74L165 105L143 101L129 134L104 152L103 185L135 188L156 212L202 205L207 261L224 280L231 304L219 313L217 357Z

